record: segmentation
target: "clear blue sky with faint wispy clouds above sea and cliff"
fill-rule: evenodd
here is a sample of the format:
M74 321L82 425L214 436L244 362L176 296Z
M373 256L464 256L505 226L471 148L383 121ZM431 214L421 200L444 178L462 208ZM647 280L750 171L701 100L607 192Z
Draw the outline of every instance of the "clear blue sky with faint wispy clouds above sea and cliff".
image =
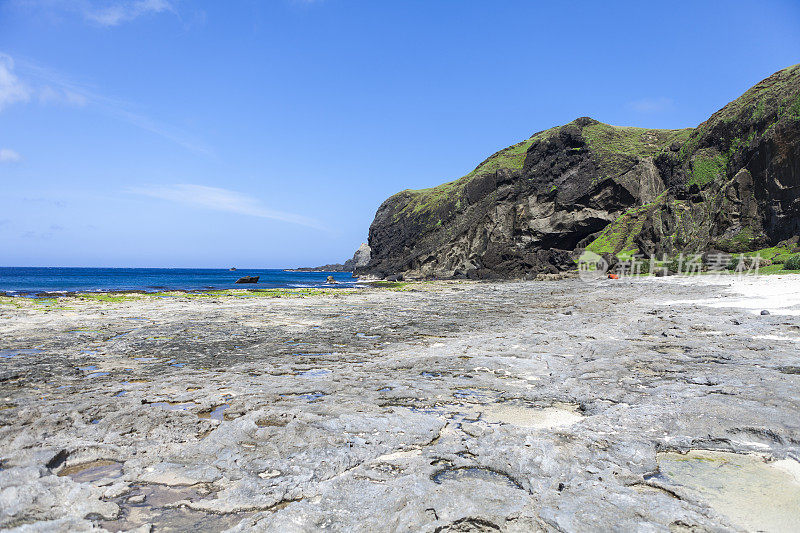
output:
M0 265L342 261L400 190L798 61L788 1L6 0Z

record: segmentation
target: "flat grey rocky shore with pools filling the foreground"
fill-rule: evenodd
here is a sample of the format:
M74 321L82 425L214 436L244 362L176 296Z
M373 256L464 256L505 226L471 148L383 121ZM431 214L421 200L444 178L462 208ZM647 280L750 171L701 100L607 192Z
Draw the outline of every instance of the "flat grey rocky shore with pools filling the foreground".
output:
M0 528L791 531L798 315L798 275L4 298Z

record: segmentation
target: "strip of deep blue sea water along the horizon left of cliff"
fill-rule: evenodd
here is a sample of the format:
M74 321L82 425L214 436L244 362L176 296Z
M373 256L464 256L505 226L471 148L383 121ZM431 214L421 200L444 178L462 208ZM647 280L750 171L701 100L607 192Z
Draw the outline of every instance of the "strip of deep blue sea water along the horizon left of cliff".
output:
M259 276L257 284L236 285L242 276ZM339 283L327 285L328 276ZM203 289L272 289L352 287L349 272L286 272L276 269L206 268L62 268L0 267L0 293L35 296L52 292L163 291Z

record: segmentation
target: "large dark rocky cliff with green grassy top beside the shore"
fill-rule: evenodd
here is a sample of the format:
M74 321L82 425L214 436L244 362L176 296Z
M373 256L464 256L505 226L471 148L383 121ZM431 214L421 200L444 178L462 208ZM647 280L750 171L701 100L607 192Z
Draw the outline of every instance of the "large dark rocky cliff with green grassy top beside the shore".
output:
M463 178L398 193L356 274L534 277L576 250L743 252L800 233L800 65L696 128L583 117L489 157Z

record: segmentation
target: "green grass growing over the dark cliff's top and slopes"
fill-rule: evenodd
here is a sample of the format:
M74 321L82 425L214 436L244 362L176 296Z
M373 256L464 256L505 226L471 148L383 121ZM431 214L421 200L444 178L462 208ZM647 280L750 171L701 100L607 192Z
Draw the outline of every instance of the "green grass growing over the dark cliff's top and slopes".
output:
M643 158L664 154L680 167L678 175L686 176L688 186L708 191L711 189L709 185L724 179L728 171L737 170L728 167L731 162L738 161L737 156L743 149L755 146L765 132L786 120L800 120L800 65L788 67L762 80L697 128L661 130L611 126L584 117L538 132L496 152L460 179L429 189L398 193L390 203L390 216L394 223L412 221L408 227L423 234L449 231L450 221L467 205L467 192L473 192L470 185L479 185L474 190L485 194L491 188L490 180L486 183L477 180L498 170L522 170L527 151L534 143L547 142L564 133L565 128L579 129L586 143L585 147L576 146L571 150L583 155L588 149L594 158L596 175L592 185L616 179ZM680 146L675 154L670 151L673 145ZM560 187L550 187L551 193L558 190ZM676 247L681 248L698 236L702 237L693 228L706 222L707 213L701 217L687 209L676 210L675 214L680 218L680 227L671 237ZM590 246L609 252L631 250L631 236L641 231L641 224L635 214L626 215L601 233ZM658 216L658 213L653 216ZM729 251L752 250L764 244L760 232L746 228L720 243Z

